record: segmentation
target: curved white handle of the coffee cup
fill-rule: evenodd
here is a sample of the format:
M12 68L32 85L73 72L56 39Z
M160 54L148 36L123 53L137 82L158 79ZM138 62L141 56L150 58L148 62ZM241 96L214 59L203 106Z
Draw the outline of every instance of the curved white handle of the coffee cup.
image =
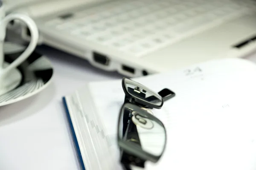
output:
M20 65L25 59L27 59L30 54L35 50L37 43L38 43L38 27L36 26L35 22L27 15L25 14L9 14L2 20L2 28L6 29L8 23L12 20L21 20L23 21L29 28L29 31L31 33L31 40L29 42L28 47L26 48L23 53L17 57L8 67L4 68L2 71L2 75L8 73L13 68L16 68L18 65ZM2 31L2 34L5 31ZM5 34L4 34L5 37ZM3 51L0 51L3 53Z

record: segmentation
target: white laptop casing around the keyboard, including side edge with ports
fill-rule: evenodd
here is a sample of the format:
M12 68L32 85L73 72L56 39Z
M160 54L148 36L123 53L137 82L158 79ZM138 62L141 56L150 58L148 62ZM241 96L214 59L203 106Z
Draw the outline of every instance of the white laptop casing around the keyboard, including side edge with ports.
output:
M244 43L240 48L233 47L244 41L256 37L256 13L248 13L228 23L219 23L208 30L192 32L179 42L167 45L156 51L145 54L141 57L134 57L123 51L113 50L104 45L86 41L80 37L74 37L53 31L44 24L49 18L58 17L61 14L76 12L83 6L90 6L93 3L107 2L107 0L30 0L20 8L12 8L10 11L23 12L31 16L38 25L43 43L54 48L74 54L87 59L95 67L106 71L118 71L129 77L137 77L146 74L153 74L185 67L197 62L204 62L209 59L224 57L244 57L253 53L256 43ZM32 3L33 1L33 3ZM31 5L29 5L31 4ZM9 5L11 6L11 5ZM56 8L58 6L58 8ZM9 9L11 9L9 7ZM22 26L21 36L29 40L26 34L26 26ZM93 60L93 51L100 52L109 58L109 65L102 65ZM124 70L123 65L134 69L134 73Z

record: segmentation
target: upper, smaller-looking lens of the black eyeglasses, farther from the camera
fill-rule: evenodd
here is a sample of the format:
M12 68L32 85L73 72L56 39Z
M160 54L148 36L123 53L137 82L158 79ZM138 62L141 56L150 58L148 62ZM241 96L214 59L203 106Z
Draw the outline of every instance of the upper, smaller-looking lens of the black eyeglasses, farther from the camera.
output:
M161 106L163 103L162 97L146 88L144 85L141 85L138 82L134 82L131 79L124 79L125 89L134 98L148 102L151 105Z

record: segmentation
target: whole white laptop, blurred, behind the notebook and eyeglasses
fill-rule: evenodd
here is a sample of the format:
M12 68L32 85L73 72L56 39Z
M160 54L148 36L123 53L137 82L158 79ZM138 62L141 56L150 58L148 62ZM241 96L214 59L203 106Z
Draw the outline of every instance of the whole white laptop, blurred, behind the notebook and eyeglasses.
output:
M41 44L138 77L256 50L255 0L6 0L32 17ZM18 21L23 40L30 32ZM18 31L15 31L18 33Z

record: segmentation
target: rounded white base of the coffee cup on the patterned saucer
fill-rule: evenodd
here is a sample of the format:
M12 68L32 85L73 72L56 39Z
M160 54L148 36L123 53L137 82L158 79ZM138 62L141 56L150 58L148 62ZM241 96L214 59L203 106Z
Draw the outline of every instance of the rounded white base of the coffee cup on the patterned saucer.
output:
M8 62L4 62L3 68L6 68L8 65L9 65ZM20 84L21 79L22 79L22 75L20 71L17 68L12 69L7 74L6 78L3 79L3 82L1 82L2 86L0 88L0 96L15 89Z

